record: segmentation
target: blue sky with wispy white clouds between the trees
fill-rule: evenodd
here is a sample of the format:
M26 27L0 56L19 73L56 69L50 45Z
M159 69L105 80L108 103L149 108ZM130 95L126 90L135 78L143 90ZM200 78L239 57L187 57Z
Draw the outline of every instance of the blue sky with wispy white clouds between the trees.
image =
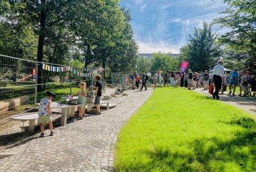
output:
M203 20L212 22L228 7L223 0L121 0L121 6L131 9L139 53L172 54L179 54L194 27L201 27ZM218 27L213 30L225 32Z

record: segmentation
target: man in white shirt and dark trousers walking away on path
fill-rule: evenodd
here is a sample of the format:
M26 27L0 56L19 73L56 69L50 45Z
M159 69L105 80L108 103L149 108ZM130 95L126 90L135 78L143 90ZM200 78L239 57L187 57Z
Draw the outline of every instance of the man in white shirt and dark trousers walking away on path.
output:
M214 80L214 85L215 85L215 92L213 93L213 98L215 99L220 99L219 97L219 92L221 89L221 83L222 83L222 78L224 74L224 67L223 67L223 61L218 61L218 65L214 66L212 70L212 76Z

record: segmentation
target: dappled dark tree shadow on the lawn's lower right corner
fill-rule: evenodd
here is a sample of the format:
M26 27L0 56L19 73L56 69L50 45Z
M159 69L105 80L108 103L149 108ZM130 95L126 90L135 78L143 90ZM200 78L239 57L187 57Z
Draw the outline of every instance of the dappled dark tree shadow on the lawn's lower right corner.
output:
M154 147L143 152L152 161L140 169L159 171L225 171L227 169L256 171L256 123L252 118L239 118L229 122L239 125L244 132L234 134L234 139L209 138L194 140L184 150L172 151L168 148Z

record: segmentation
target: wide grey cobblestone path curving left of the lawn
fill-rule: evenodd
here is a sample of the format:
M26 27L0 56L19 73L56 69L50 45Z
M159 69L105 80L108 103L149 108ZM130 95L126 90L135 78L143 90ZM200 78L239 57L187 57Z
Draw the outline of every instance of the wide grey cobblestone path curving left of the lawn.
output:
M54 129L54 136L37 133L5 151L15 155L0 159L0 171L113 171L115 142L124 122L150 97L152 89L127 91L129 96L110 100L117 106L102 115Z

